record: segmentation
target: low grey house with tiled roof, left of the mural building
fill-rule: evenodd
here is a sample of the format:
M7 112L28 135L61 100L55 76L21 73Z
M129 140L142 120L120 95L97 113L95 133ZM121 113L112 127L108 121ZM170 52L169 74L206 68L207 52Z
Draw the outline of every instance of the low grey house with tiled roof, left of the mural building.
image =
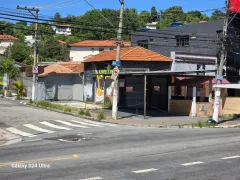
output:
M84 64L57 62L38 75L37 100L83 101Z

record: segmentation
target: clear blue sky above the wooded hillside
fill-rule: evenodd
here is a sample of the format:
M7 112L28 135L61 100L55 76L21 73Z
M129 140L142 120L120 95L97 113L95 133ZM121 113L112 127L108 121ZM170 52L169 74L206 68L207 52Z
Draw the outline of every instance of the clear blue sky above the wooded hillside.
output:
M119 9L119 0L90 0L90 3L97 9L111 8ZM91 7L84 0L4 0L0 7L16 9L17 5L40 6L40 14L53 16L60 12L64 17L70 15L82 15ZM225 6L225 0L125 0L126 8L136 8L138 12L142 10L150 11L155 6L157 10L164 10L171 6L182 6L184 11L207 10Z

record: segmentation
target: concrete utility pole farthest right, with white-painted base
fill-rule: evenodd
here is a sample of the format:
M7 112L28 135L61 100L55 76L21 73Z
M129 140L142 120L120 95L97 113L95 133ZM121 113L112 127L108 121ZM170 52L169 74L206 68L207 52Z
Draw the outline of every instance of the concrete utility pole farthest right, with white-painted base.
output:
M228 7L229 7L229 0L226 0L226 9L227 9L227 13L226 13L226 17L224 19L224 25L223 25L223 33L222 33L222 44L221 44L221 50L220 50L220 62L218 65L218 71L217 71L217 85L222 84L222 80L223 80L223 66L224 63L227 60L227 53L226 52L226 47L225 47L225 38L227 37L227 29L228 29ZM218 57L218 58L219 58ZM219 109L220 109L220 99L221 99L221 88L216 88L215 89L215 99L214 99L214 108L213 108L213 120L218 123L218 115L219 115Z

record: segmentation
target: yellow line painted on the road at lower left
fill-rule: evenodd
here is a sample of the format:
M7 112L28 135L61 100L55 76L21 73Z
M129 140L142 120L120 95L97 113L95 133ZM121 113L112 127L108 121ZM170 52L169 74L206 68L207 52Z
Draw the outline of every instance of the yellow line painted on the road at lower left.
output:
M71 160L80 158L78 154L74 154L70 157L56 157L56 158L45 158L45 159L35 159L35 160L28 160L28 161L15 161L15 162L6 162L0 163L0 167L11 165L11 164L27 164L27 163L37 163L37 162L54 162L54 161L62 161L62 160Z

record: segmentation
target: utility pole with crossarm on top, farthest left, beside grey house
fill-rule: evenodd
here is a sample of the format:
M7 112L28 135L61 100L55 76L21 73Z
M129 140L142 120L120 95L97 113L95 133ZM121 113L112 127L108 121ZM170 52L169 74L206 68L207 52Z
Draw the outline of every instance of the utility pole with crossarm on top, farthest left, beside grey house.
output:
M17 6L17 9L27 10L35 17L35 35L34 35L34 64L33 64L33 84L32 84L32 101L36 100L36 80L38 74L38 63L37 63L37 30L38 30L38 13L39 9L34 7L20 7ZM36 12L33 14L32 11Z

